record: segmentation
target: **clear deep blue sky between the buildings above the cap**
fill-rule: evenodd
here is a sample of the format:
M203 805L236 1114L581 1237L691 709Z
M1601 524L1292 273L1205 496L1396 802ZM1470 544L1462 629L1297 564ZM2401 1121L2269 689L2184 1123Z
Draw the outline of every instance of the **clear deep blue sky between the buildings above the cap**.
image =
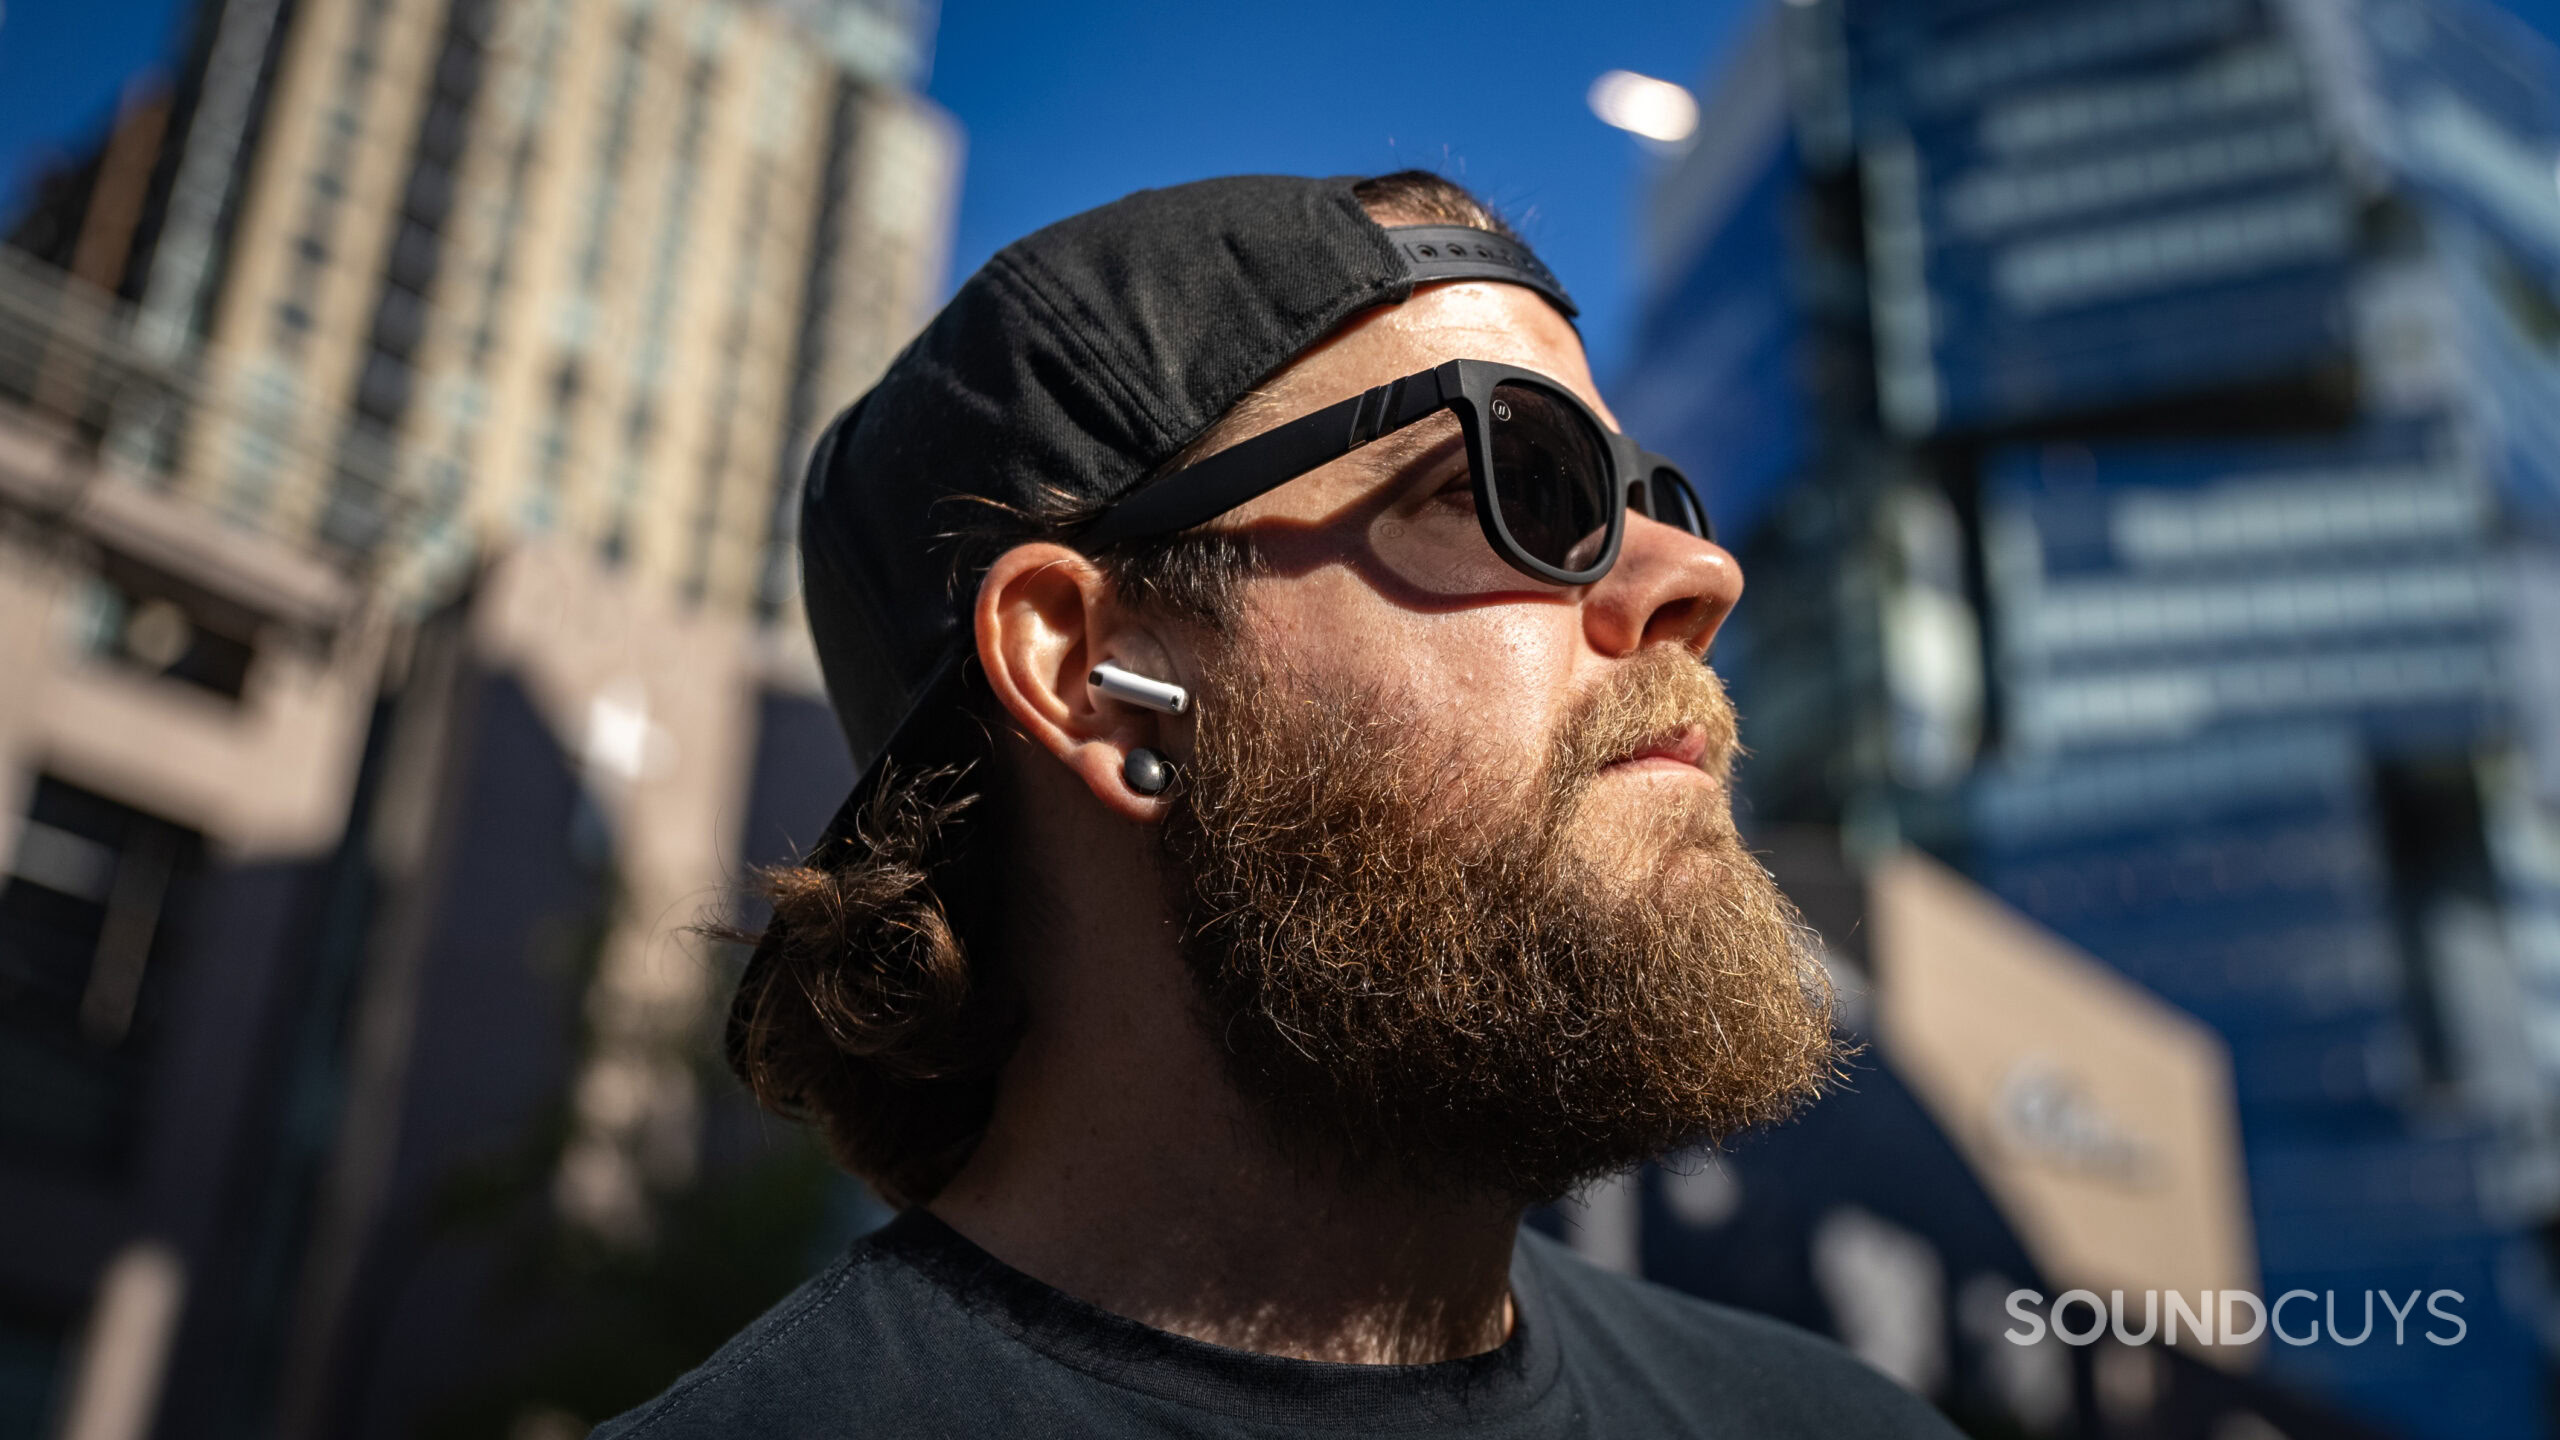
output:
M0 0L0 195L95 133L182 41L184 0ZM1705 74L1754 0L1295 5L945 0L929 92L968 131L955 272L1144 184L1423 167L1500 205L1582 302L1608 374L1654 161L1582 102L1605 69ZM2511 5L2560 36L2560 0Z

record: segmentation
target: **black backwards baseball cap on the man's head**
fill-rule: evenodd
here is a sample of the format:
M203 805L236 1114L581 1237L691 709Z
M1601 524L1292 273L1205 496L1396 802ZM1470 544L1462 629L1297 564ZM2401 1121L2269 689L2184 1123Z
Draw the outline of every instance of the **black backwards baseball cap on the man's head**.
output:
M1436 279L1526 284L1574 315L1528 246L1380 225L1359 177L1239 174L1139 190L998 251L809 456L801 587L863 779L809 863L845 858L881 774L968 761L980 502L1106 505L1336 325Z

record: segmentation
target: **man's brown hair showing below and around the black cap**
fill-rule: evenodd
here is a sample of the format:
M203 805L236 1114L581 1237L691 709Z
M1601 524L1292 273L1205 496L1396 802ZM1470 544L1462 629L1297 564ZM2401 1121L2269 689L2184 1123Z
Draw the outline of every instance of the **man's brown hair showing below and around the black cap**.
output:
M1382 223L1518 238L1464 187L1421 169L1364 179L1352 195ZM1249 392L1162 471L1260 430L1267 413L1270 400ZM1096 512L1055 495L973 515L955 536L955 584L1011 546L1070 543ZM1247 546L1219 530L1114 546L1096 564L1134 602L1208 630L1226 630L1252 574ZM993 700L978 689L991 717ZM960 1171L1021 1035L1011 956L996 940L1006 833L991 779L980 769L883 774L850 858L763 869L755 894L773 917L760 930L712 928L760 945L730 1002L730 1068L758 1104L814 1122L837 1163L891 1204L932 1199Z

